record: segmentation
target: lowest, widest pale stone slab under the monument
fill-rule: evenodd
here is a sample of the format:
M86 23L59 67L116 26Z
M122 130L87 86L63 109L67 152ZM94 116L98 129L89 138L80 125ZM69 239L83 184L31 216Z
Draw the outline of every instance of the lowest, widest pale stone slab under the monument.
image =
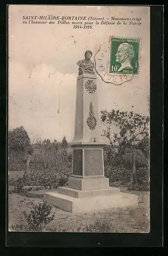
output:
M75 198L60 193L49 192L44 194L44 201L62 210L77 213L137 205L138 197L128 193L112 193L111 195L105 196Z

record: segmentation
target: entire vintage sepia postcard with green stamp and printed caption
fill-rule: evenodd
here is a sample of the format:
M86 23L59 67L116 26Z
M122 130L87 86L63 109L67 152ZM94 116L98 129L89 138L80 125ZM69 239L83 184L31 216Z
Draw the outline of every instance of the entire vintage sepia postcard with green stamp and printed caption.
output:
M150 232L150 7L8 14L8 230Z

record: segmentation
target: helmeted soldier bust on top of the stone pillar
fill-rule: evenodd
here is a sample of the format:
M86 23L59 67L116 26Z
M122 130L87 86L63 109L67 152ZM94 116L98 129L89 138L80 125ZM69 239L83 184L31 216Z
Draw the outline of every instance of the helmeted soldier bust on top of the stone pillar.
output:
M78 60L77 65L79 66L79 75L83 73L95 74L93 71L94 63L91 60L92 52L90 50L85 52L85 59Z

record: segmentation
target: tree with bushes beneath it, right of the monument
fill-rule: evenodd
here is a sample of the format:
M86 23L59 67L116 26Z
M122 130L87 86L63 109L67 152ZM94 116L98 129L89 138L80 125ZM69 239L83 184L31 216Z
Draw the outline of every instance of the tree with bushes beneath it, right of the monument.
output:
M105 176L129 189L149 190L149 117L127 111L102 111ZM114 129L115 128L115 129Z

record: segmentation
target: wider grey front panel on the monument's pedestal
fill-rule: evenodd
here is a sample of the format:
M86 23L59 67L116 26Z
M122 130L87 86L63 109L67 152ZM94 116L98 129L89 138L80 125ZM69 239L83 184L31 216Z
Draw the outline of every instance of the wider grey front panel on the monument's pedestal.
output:
M103 175L102 149L84 150L84 176Z

